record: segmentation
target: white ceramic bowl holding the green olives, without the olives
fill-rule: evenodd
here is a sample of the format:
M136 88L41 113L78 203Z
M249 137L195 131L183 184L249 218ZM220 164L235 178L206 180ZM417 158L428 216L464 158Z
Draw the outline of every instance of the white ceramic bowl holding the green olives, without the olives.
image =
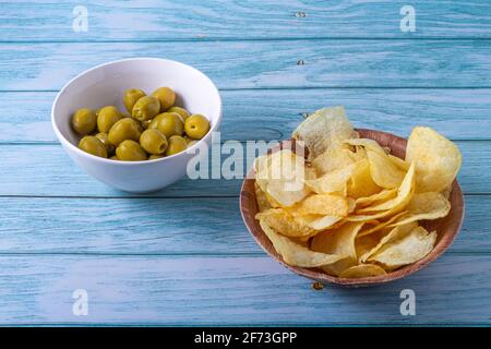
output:
M149 94L160 86L169 86L177 93L177 105L204 115L211 122L211 131L189 152L131 163L105 159L79 149L80 137L70 127L76 109L115 105L125 111L124 89L135 87ZM218 130L220 120L221 99L215 84L190 65L158 58L124 59L89 69L63 86L51 109L52 128L70 157L99 181L133 193L153 192L183 177L193 148L204 143L209 146L212 132Z

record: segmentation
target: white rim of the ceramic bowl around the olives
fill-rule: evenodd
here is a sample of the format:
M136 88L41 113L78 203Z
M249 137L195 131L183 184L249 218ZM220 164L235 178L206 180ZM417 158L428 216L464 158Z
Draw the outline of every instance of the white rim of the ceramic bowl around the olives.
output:
M100 69L100 68L104 68L104 67L107 67L107 65L116 64L116 63L127 62L127 61L158 61L158 62L167 62L167 63L172 63L172 64L177 64L177 65L182 65L182 67L184 67L187 69L193 70L195 73L201 75L205 81L207 81L212 85L213 92L216 94L216 96L218 98L218 108L219 108L218 109L218 117L216 119L216 122L214 122L214 124L209 128L208 133L203 139L196 140L197 142L194 143L191 147L187 148L184 152L181 152L181 153L178 153L178 154L173 154L173 155L170 155L170 156L166 156L166 157L163 157L163 158L158 158L158 159L144 160L144 161L115 161L115 160L111 160L109 158L95 156L95 155L88 154L88 153L80 149L72 142L67 140L67 137L61 133L60 129L58 128L57 121L55 120L55 108L57 107L58 101L59 101L60 97L62 96L62 94L64 93L64 91L74 81L76 81L81 76L83 76L83 75L85 75L85 74L87 74L87 73L89 73L89 72L92 72L94 70L97 70L97 69ZM212 133L215 132L218 129L219 124L221 123L223 109L224 109L224 107L223 107L221 96L219 94L218 87L215 85L215 83L205 73L203 73L199 69L196 69L196 68L194 68L192 65L189 65L189 64L185 64L185 63L182 63L182 62L179 62L179 61L175 61L175 60L171 60L171 59L166 59L166 58L157 58L157 57L123 58L123 59L118 59L118 60L113 60L113 61L109 61L109 62L105 62L105 63L92 67L92 68L89 68L89 69L79 73L77 75L72 77L69 82L67 82L63 85L63 87L61 87L61 89L58 92L58 94L55 97L55 100L52 103L52 106L51 106L51 127L55 130L55 134L57 135L58 140L60 141L60 143L62 143L62 145L68 146L71 151L75 152L76 154L79 154L82 157L85 157L87 159L93 159L93 160L99 161L101 164L111 164L111 165L118 165L118 166L141 166L141 165L145 165L145 164L148 164L148 165L149 164L155 164L155 163L158 163L158 161L161 161L161 163L165 163L166 160L169 161L171 158L183 156L184 154L190 154L190 153L194 154L195 151L192 152L191 149L197 148L202 144L202 141L208 140L212 136Z

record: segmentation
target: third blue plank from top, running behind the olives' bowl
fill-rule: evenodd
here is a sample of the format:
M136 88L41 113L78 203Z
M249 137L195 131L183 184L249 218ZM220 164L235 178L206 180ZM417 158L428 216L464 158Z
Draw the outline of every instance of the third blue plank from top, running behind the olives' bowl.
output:
M0 143L56 142L49 120L55 96L53 92L0 93ZM223 91L221 97L223 140L286 139L302 113L330 105L346 106L358 128L407 136L422 124L453 140L491 140L489 88L252 89Z

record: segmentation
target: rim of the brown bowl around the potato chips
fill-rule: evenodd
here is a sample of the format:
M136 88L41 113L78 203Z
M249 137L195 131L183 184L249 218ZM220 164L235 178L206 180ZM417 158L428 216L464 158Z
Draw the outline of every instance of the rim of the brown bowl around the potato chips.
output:
M369 129L356 129L356 131L364 132L364 133L376 133L380 135L388 135L393 139L398 139L398 140L403 140L404 142L407 142L407 140L404 137L400 137L398 135L395 135L395 134L392 134L388 132L384 132L384 131L376 131L376 130L369 130ZM268 153L270 152L274 153L274 152L282 149L283 145L286 142L291 142L291 141L292 140L280 141L279 145L277 145L273 148L270 148ZM320 270L319 268L306 268L306 267L298 267L298 266L292 266L292 265L287 264L283 260L282 255L279 253L277 253L276 250L274 250L274 246L273 246L271 240L268 240L268 238L266 237L266 234L264 233L264 231L261 229L261 227L259 225L258 225L259 233L256 233L254 231L254 227L249 225L249 221L250 221L249 216L250 215L249 215L249 213L247 213L248 209L246 208L247 201L253 200L255 202L255 193L252 191L253 197L247 197L247 196L249 196L250 192L248 190L246 190L247 185L250 185L251 183L253 183L255 181L255 178L254 178L254 176L252 176L252 173L253 173L253 168L251 168L248 171L248 173L242 182L242 185L240 189L240 197L239 197L240 214L241 214L242 220L243 220L249 233L254 238L255 242L261 246L261 249L264 252L266 252L267 255L270 255L276 262L280 263L287 269L289 269L300 276L310 278L312 280L327 282L333 286L338 286L338 287L378 286L378 285L387 284L391 281L395 281L395 280L402 279L402 278L405 278L406 276L409 276L411 274L419 272L420 269L424 268L428 264L438 260L452 245L452 243L455 241L455 238L462 230L462 225L463 225L464 218L465 218L464 195L463 195L463 192L462 192L460 185L458 184L457 179L455 179L454 182L452 183L451 195L453 195L455 193L457 198L458 197L462 198L462 206L456 207L457 210L454 213L459 216L459 220L458 220L458 224L455 227L454 231L452 231L452 233L444 236L444 238L445 238L444 244L440 243L443 240L443 238L442 238L439 240L439 243L435 243L435 245L433 246L433 250L430 253L428 253L424 257L422 257L421 260L419 260L415 263L405 265L396 270L387 272L387 274L385 274L385 275L380 275L380 276L374 276L374 277L363 277L363 278L340 278L337 276L328 275L328 274ZM455 206L457 206L457 205L455 205ZM453 208L454 208L454 206L452 206L452 209ZM252 217L252 219L254 220L255 218ZM267 245L261 241L260 234L266 237L266 239L268 241Z

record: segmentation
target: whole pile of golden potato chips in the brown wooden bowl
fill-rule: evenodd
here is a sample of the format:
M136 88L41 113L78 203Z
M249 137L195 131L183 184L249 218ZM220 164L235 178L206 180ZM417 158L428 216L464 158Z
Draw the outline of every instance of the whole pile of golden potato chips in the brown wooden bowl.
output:
M360 139L343 107L318 110L294 132L300 145L254 163L255 216L284 261L342 278L384 275L433 249L462 165L457 146L415 128L406 158ZM307 148L309 156L302 154Z

